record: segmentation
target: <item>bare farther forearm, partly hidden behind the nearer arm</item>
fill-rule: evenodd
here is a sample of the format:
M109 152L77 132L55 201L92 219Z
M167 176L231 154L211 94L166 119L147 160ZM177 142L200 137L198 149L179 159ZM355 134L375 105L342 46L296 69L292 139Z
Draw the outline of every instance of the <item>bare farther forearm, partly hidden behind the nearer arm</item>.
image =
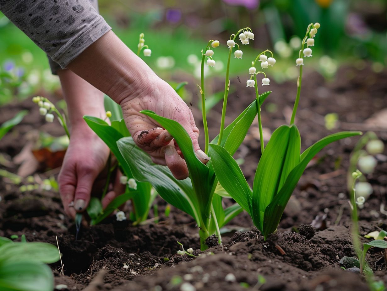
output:
M83 116L105 118L104 94L68 69L59 70L58 76L67 103L72 133L74 130L84 131L85 129L85 133L88 133L89 126Z

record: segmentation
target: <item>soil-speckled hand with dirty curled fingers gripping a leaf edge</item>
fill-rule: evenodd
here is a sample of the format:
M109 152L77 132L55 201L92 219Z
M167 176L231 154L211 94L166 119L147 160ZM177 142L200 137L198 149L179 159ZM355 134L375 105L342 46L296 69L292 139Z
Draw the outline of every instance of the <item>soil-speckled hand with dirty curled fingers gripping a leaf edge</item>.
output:
M171 134L139 111L151 110L160 116L177 121L192 139L194 151L199 160L207 163L209 157L200 150L197 140L199 129L187 104L168 83L157 76L151 79L147 86L143 86L141 92L122 100L125 123L137 146L149 153L154 163L167 165L176 179L185 179L189 175L187 164L178 145L172 140Z

